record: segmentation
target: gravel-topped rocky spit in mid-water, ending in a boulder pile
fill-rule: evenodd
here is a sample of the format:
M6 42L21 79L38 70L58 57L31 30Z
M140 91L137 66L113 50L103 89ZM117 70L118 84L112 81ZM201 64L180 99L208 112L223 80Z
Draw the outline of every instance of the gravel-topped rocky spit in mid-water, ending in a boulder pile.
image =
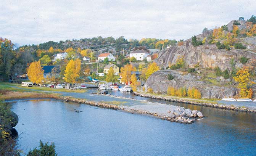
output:
M121 110L132 114L142 114L156 117L171 122L179 122L183 124L192 124L197 118L203 117L203 114L197 110L185 109L184 107L166 105L160 103L146 102L145 105L134 106L118 106L115 104L107 104L96 101L88 101L86 99L73 98L70 96L61 97L60 100L70 101L74 103L87 104L101 108Z

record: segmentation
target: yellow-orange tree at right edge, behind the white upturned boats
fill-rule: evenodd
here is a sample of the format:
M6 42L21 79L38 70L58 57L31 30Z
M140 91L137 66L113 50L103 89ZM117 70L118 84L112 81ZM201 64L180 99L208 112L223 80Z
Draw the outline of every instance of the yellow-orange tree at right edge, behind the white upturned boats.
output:
M238 82L238 88L240 88L240 96L242 98L251 98L253 91L249 88L253 81L250 80L250 73L248 68L243 68L237 71L237 74L233 79Z

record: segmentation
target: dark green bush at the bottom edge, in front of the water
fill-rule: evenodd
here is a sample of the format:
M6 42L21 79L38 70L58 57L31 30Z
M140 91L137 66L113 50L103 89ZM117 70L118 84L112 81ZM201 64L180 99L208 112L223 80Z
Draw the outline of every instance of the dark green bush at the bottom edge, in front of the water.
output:
M27 156L57 156L54 143L51 143L51 145L48 145L48 142L43 144L40 140L40 145L38 147L40 149L34 148L32 151L29 150Z

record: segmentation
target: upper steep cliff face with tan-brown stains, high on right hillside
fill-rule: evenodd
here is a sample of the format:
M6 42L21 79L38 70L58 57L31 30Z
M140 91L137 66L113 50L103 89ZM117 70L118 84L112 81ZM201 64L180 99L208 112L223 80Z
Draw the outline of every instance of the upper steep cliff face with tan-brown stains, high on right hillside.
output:
M203 37L201 34L200 37ZM251 38L253 40L253 38ZM250 41L251 41L250 40ZM253 42L251 42L253 43ZM191 40L184 41L182 46L173 46L169 49L160 51L155 62L164 69L169 64L175 64L179 56L184 56L187 67L193 68L197 63L200 68L215 68L219 66L222 70L231 69L230 59L236 62L236 68L250 66L253 60L256 60L256 46L247 45L250 50L239 50L232 48L230 51L219 50L215 44L206 44L194 47ZM246 64L240 63L240 58L244 56L250 58Z

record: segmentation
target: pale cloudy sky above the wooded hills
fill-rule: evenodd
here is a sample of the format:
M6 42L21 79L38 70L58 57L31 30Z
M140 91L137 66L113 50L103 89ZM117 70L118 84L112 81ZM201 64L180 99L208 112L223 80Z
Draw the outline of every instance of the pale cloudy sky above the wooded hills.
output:
M0 37L19 46L98 36L179 40L253 14L255 0L0 0Z

